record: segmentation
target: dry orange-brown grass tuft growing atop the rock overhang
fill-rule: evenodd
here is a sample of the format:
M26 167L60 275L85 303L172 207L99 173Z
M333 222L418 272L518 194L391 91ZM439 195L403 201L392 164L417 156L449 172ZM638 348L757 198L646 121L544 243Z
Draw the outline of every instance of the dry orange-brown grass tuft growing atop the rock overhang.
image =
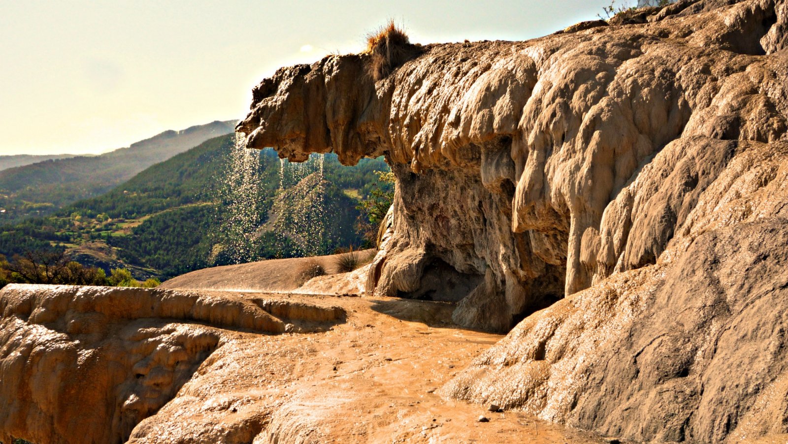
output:
M394 20L366 36L366 53L372 56L369 72L376 82L419 52L418 46L411 45L405 32L396 27Z

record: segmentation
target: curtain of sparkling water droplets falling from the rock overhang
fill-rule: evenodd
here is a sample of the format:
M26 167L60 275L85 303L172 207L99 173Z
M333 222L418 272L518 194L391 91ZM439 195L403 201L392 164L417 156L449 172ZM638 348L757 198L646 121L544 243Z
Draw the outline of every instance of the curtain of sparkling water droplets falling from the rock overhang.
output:
M277 176L266 175L265 168L276 164L262 164L259 150L245 148L243 134L236 135L230 150L217 202L221 232L215 234L212 265L317 256L343 242L347 210L325 181L323 154L303 162L280 159L279 189L271 199L264 182Z

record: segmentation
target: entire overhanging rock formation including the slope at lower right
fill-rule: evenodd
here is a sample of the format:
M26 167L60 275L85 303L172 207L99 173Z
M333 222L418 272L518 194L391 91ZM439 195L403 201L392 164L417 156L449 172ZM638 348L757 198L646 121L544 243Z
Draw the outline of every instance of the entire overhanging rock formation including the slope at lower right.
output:
M784 1L683 0L423 46L377 81L331 56L263 80L238 130L292 161L385 155L368 291L450 273L458 324L526 318L444 395L638 441L786 433L786 28Z

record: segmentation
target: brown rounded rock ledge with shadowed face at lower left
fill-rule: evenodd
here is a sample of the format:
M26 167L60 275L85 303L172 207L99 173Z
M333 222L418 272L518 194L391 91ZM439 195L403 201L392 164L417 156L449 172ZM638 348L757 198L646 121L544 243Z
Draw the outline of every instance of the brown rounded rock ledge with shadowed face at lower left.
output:
M344 309L266 298L110 287L0 292L0 441L125 442L228 330L310 331Z

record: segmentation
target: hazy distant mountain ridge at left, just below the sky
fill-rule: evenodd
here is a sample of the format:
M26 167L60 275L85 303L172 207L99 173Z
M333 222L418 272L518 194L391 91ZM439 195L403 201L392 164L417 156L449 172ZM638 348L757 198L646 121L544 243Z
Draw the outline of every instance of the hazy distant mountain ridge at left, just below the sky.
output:
M47 160L0 171L0 223L46 216L110 191L157 162L233 131L235 121L214 121L182 131L165 131L128 148L99 156Z

